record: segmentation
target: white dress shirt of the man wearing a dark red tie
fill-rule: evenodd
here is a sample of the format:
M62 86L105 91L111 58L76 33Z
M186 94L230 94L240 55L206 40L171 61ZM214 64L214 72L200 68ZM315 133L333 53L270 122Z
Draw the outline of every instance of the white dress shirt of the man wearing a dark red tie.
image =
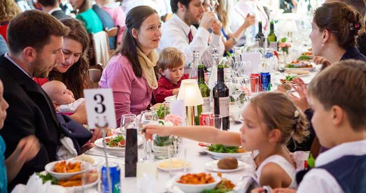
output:
M193 40L189 43L188 34L192 30ZM203 27L188 26L176 14L162 25L162 37L159 43L159 50L166 47L174 47L182 51L185 55L185 73L190 72L188 64L193 60L193 50L198 50L200 54L201 63L205 67L212 66L212 48L218 48L219 55L222 56L225 51L225 46L221 35L211 34L210 41L208 38L210 34L207 29Z

